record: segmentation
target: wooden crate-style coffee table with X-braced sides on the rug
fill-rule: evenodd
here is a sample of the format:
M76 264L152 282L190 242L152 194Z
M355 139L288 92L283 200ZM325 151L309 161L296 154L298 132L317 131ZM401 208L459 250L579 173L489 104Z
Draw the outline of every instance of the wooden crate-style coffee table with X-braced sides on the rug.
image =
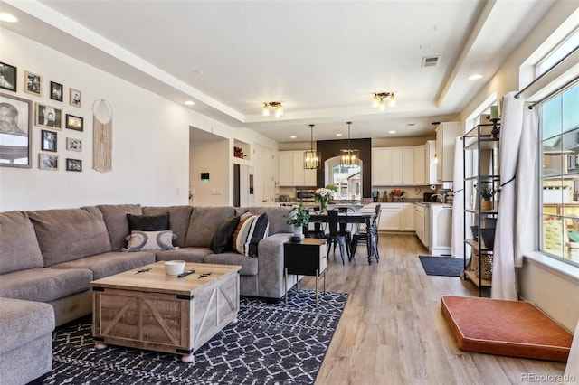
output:
M185 271L195 273L176 277L166 275L164 263L90 282L97 349L110 343L194 362L195 350L237 322L240 266L187 263Z

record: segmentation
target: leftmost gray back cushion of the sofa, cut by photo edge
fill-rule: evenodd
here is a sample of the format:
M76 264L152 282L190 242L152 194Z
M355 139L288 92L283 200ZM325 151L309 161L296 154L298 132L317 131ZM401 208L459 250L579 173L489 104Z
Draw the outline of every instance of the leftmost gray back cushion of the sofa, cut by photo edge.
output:
M33 224L24 211L0 213L0 245L0 274L44 266Z

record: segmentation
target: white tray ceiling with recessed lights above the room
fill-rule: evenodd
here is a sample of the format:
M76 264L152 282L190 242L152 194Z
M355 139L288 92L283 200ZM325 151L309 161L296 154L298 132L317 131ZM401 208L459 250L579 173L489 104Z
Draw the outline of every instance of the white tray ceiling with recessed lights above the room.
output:
M278 142L432 135L457 118L552 0L4 0L2 26ZM422 58L440 56L422 68ZM480 80L467 80L480 73ZM372 108L394 92L396 108ZM280 101L281 118L261 117ZM413 126L411 126L413 125ZM395 130L395 134L389 134ZM296 139L289 136L295 135ZM344 137L344 136L343 136Z

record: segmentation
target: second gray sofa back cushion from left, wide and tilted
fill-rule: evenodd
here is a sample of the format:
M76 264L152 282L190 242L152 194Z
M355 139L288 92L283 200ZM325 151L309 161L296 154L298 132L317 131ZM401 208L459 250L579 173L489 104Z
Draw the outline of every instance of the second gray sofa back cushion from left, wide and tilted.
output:
M44 266L110 251L102 213L96 207L29 211Z

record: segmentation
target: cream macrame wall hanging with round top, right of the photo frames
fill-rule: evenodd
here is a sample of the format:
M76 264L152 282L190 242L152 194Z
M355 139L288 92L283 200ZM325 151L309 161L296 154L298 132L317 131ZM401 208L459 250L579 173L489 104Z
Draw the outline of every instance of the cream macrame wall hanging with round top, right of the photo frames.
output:
M112 170L112 108L105 99L92 103L92 168L99 173Z

